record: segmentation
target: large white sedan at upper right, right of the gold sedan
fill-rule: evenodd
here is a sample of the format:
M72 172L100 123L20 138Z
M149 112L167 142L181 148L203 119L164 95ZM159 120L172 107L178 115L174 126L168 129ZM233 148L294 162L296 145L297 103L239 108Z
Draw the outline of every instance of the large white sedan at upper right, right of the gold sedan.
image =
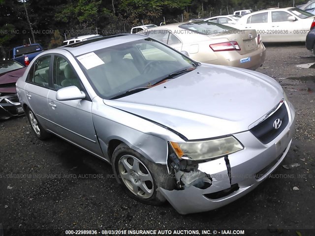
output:
M314 15L296 7L256 11L243 16L233 27L256 29L265 42L305 42Z

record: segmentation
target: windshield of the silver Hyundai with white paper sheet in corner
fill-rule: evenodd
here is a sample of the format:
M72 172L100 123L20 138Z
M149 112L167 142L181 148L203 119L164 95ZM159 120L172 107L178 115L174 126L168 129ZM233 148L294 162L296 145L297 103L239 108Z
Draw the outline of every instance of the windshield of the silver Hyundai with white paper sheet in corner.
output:
M103 48L77 59L103 99L149 88L172 73L196 66L194 61L149 38Z

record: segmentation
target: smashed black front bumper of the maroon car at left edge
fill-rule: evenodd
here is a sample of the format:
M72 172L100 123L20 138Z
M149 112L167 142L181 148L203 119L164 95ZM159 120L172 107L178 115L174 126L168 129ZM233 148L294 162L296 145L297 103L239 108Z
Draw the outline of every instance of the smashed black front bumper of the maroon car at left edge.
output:
M0 119L24 115L16 93L0 95Z

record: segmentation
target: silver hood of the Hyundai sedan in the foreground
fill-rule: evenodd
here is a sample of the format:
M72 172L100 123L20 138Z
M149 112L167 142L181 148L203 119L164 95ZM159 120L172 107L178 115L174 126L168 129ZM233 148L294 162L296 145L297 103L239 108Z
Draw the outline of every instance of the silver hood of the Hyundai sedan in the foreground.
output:
M261 73L202 64L166 83L104 103L197 140L246 131L283 97L281 86Z

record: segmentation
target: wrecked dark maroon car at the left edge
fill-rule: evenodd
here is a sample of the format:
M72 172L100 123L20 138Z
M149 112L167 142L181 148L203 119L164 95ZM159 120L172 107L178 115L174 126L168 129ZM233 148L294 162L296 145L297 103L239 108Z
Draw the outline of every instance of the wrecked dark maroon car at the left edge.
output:
M16 95L15 83L26 67L14 60L0 61L0 119L24 114Z

